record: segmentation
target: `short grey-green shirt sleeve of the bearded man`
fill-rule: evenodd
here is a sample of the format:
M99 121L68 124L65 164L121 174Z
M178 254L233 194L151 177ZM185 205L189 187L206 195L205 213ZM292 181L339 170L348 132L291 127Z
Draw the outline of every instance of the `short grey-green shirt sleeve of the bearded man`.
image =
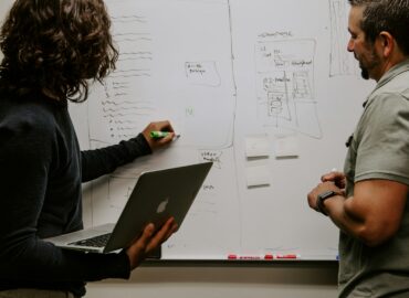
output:
M377 95L361 121L355 180L409 184L409 100L399 94Z

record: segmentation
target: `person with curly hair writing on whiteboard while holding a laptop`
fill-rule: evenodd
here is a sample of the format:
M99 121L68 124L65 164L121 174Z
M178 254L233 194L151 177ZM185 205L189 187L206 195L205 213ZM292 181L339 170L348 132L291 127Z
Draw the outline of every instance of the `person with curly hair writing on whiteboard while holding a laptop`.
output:
M81 183L168 145L168 121L115 146L81 151L69 102L115 68L103 0L17 0L0 32L0 297L81 297L85 283L128 278L175 231L147 225L118 254L42 241L83 227ZM150 130L169 130L149 138Z

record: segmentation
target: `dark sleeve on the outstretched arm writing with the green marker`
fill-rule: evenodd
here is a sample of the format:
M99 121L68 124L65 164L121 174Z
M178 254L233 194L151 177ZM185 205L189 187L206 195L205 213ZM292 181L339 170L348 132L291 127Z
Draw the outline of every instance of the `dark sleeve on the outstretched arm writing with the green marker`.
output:
M83 182L111 173L116 168L149 153L151 150L143 134L118 145L82 151Z

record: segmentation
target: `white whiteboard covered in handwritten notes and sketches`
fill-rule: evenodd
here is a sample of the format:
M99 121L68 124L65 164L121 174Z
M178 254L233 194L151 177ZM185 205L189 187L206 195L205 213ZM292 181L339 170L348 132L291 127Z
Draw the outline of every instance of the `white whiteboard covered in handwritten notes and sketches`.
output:
M170 119L171 148L87 185L87 224L115 221L147 169L213 160L167 259L300 254L335 259L338 232L310 210L370 83L347 53L344 0L108 0L117 71L72 106L83 149Z

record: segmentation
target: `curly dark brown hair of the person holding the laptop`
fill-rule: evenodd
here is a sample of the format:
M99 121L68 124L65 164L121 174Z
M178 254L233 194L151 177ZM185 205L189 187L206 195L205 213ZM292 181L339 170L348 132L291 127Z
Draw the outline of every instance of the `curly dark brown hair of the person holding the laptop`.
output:
M17 0L0 32L2 88L83 102L88 79L115 70L118 52L103 0Z

